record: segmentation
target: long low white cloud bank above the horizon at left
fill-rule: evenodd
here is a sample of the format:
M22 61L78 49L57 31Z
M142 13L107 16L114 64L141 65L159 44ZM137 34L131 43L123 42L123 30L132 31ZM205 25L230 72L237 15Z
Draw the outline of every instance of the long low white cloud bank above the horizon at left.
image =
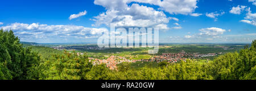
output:
M51 38L53 37L92 37L100 36L106 28L87 28L77 25L47 25L47 24L24 24L13 23L1 27L4 30L12 29L16 36L21 38Z

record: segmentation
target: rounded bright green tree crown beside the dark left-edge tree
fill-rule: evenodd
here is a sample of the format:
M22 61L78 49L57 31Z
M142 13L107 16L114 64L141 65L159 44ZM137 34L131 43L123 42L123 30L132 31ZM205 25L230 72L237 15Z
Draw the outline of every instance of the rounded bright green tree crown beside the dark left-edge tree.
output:
M86 55L77 55L75 52L53 55L40 64L40 79L86 79L86 73L92 68Z

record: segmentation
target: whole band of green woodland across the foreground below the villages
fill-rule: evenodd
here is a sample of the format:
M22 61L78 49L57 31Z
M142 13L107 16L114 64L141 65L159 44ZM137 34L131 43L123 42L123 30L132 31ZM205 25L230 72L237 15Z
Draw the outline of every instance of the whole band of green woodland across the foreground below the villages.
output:
M143 66L134 70L119 64L109 70L105 64L93 66L88 56L75 51L56 51L47 47L32 50L23 47L13 31L0 31L0 79L256 79L256 41L239 52L220 55L208 62L186 60L179 63L160 62L157 67ZM38 52L40 51L40 52Z

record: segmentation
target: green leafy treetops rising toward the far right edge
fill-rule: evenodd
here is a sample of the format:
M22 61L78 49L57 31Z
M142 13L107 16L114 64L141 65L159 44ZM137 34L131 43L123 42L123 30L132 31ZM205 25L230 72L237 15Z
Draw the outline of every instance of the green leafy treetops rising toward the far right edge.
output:
M214 59L212 75L214 79L256 79L256 41L251 47L245 47L240 53L228 53Z

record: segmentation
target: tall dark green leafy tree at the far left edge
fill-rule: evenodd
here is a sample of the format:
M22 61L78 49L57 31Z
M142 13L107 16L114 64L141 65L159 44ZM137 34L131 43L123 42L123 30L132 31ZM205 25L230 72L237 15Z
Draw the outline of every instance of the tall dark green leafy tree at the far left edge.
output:
M31 70L40 61L38 54L23 48L11 30L0 30L0 42L0 79L32 79Z

